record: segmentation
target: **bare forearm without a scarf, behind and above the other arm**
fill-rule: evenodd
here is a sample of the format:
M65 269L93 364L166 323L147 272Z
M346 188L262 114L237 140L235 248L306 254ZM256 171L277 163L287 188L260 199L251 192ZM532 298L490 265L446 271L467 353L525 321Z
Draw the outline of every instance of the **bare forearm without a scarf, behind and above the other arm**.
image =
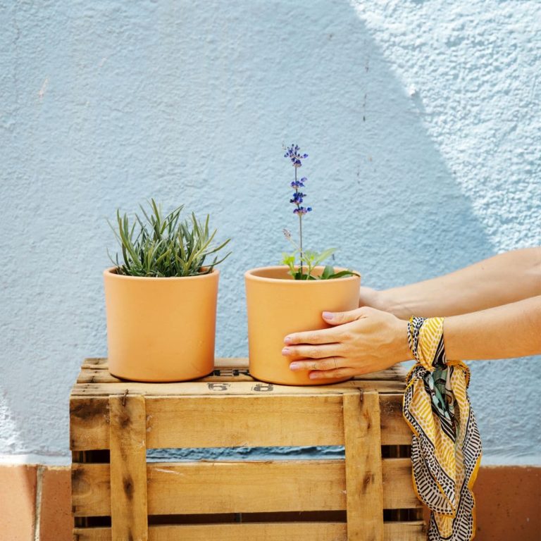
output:
M541 247L509 251L454 273L378 292L399 318L455 316L541 295ZM361 304L363 304L361 291Z

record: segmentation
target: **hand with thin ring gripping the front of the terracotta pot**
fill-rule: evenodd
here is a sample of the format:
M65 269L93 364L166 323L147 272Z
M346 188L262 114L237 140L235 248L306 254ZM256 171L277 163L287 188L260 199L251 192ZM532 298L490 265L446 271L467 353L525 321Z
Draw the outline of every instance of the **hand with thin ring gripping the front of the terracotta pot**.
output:
M411 358L408 322L363 306L347 312L323 312L332 328L294 332L284 339L282 355L291 370L311 371L311 379L349 378L385 370Z

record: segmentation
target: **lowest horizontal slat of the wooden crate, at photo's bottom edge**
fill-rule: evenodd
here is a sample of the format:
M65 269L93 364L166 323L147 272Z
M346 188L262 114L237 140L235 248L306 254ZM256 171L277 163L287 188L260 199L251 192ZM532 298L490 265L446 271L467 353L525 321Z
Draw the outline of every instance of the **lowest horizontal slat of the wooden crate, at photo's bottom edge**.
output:
M77 541L111 541L111 528L75 528ZM425 541L424 524L390 522L384 541ZM261 523L150 526L149 541L347 541L344 523Z

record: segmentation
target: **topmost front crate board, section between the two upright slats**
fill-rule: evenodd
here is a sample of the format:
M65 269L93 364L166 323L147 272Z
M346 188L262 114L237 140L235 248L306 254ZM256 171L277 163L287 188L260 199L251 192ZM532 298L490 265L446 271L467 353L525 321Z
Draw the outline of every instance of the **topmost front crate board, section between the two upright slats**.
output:
M342 445L340 395L147 399L149 448Z

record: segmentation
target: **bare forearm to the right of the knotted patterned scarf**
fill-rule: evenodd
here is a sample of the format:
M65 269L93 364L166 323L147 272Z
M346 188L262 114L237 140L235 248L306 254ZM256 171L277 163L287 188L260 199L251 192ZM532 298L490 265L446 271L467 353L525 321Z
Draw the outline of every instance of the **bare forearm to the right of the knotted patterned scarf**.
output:
M506 359L541 354L541 295L445 318L447 359Z

